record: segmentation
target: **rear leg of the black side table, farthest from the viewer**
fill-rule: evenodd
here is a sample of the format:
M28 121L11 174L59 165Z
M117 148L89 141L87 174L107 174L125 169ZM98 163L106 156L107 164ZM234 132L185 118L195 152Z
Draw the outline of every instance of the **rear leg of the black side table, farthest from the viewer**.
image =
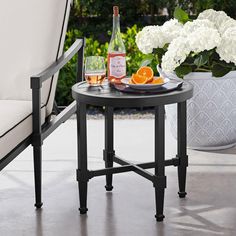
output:
M113 150L113 107L105 108L105 149L103 150L103 159L105 161L105 167L113 167L113 157L115 151ZM106 186L107 191L113 189L112 186L112 174L106 175Z

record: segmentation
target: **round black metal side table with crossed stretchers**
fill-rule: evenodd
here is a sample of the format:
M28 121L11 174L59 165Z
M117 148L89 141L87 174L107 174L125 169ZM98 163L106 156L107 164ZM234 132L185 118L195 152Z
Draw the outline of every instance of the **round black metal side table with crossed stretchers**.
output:
M186 153L186 100L193 95L192 86L184 82L181 89L163 94L126 94L117 91L108 84L103 87L89 87L86 82L75 84L72 87L72 96L77 103L77 130L78 130L78 169L77 181L79 187L80 213L87 212L87 187L89 179L95 176L106 175L106 190L111 191L112 175L121 172L134 171L153 182L156 196L156 220L163 221L164 191L166 188L165 166L177 166L179 197L186 195L186 171L188 156ZM178 147L175 158L165 160L165 112L166 104L178 104ZM105 106L105 149L103 158L104 169L87 169L87 105ZM133 164L119 158L113 146L113 109L114 107L154 107L155 109L155 161ZM113 162L120 164L113 167ZM155 174L146 169L155 168Z

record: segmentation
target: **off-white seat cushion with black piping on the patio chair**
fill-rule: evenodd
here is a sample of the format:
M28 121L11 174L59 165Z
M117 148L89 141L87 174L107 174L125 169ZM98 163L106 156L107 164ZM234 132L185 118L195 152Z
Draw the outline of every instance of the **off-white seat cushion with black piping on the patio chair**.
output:
M41 109L45 122L45 106ZM0 100L0 159L32 133L32 102Z

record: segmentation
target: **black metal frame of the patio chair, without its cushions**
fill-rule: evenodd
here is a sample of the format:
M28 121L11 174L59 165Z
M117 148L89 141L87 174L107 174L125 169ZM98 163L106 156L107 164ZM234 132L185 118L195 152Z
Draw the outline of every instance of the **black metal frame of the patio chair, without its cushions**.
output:
M42 145L43 141L62 123L68 120L76 112L76 102L72 102L61 113L52 120L48 119L41 125L41 89L44 81L52 78L61 68L66 65L70 59L78 54L78 67L76 82L80 82L83 78L83 62L84 62L85 39L77 39L73 45L53 64L51 64L43 72L31 76L32 89L32 118L33 131L25 140L18 144L12 151L0 160L0 171L14 160L23 150L30 144L33 146L34 156L34 179L35 179L35 207L41 208L42 203Z

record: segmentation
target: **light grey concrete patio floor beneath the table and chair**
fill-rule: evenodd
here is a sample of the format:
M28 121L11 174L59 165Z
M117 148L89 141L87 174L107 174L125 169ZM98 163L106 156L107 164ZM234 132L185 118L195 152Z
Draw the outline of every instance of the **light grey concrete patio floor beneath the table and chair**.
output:
M103 168L103 120L88 121L89 168ZM116 153L135 162L152 161L152 119L115 120ZM156 222L154 188L135 173L114 176L107 193L105 178L89 181L88 214L78 211L76 121L58 128L43 148L43 208L35 210L32 148L0 174L1 236L152 236L236 235L236 148L188 150L186 199L179 199L177 171L167 167L165 220ZM166 156L176 141L166 127Z

